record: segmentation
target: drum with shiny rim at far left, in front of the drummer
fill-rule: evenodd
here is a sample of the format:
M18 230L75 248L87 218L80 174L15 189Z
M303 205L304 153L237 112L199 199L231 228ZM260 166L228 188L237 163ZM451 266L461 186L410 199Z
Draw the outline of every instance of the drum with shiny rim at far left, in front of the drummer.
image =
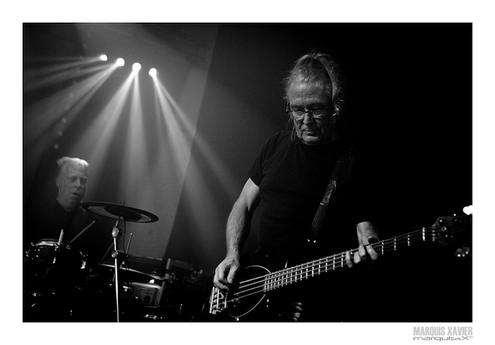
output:
M87 274L86 257L67 242L47 239L33 242L25 255L25 288L35 292L63 292L80 286Z

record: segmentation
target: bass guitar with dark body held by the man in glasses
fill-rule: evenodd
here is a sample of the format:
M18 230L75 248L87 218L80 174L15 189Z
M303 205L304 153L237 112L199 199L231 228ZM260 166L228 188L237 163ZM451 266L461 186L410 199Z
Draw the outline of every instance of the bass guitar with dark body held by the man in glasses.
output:
M396 252L401 248L411 247L419 242L437 241L441 245L448 245L466 228L472 228L472 215L443 216L437 218L433 226L429 228L404 233L388 240L375 242L371 246L379 255L384 255L387 252ZM350 252L353 258L358 248L347 252ZM269 271L256 264L244 267L238 274L240 281L234 291L224 294L216 286L212 288L209 297L209 314L228 314L233 320L239 321L263 304L267 293L347 267L345 259L347 252L286 267L279 271ZM467 252L469 248L459 249L456 255L464 256Z

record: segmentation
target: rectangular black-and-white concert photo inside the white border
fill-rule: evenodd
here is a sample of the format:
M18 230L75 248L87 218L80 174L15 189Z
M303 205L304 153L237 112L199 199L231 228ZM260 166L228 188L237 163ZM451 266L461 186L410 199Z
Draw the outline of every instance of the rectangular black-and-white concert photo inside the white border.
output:
M23 326L476 340L473 30L24 21Z

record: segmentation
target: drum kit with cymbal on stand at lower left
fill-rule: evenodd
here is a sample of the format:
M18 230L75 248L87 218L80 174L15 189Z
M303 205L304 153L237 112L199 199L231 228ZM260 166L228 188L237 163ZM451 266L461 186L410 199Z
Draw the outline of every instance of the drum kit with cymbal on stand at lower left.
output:
M27 314L25 321L116 320L120 322L121 316L125 314L121 310L121 305L135 301L136 296L126 294L126 291L132 290L133 284L136 286L141 284L142 287L150 282L167 282L165 277L124 267L127 253L117 250L117 240L120 236L118 226L121 221L153 223L158 221L157 216L124 204L91 201L83 202L82 206L93 214L115 219L115 226L112 228L113 264L96 264L88 267L88 257L83 250L71 242L64 241L64 230L61 231L58 241L42 239L32 242L28 252L25 253L23 267L24 311L28 310L28 313L25 312ZM88 288L88 281L91 288ZM111 290L113 292L110 292ZM66 303L67 301L70 303ZM70 308L67 307L68 304ZM98 314L101 317L102 313L98 310L101 311L102 308L105 308L107 318L99 320L98 317L88 317L89 314ZM50 315L57 317L47 317L47 310L51 311ZM81 310L85 311L81 312ZM152 320L156 320L153 319L154 317L161 318L152 316Z

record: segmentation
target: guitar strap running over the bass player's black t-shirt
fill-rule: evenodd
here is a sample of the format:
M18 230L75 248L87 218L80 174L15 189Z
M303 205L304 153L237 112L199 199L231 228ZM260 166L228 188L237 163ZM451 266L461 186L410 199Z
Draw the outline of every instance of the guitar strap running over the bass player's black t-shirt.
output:
M330 198L336 194L337 187L345 185L349 180L351 170L354 165L355 156L356 148L354 147L344 148L344 150L340 153L339 159L337 160L337 165L335 165L334 171L332 172L330 182L328 182L325 194L323 194L322 201L320 201L320 206L318 206L315 218L313 218L313 223L311 223L311 242L318 241L318 233L320 232L323 221L325 220L325 216L327 216Z

